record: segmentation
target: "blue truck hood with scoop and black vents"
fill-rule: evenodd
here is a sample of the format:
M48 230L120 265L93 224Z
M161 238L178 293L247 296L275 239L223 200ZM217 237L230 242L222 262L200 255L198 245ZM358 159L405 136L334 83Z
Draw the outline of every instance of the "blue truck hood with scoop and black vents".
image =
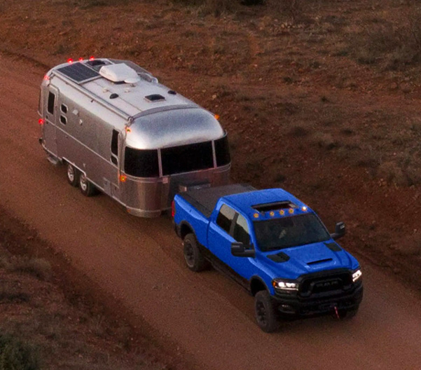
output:
M273 277L288 279L322 270L358 266L357 260L333 241L265 252L261 262L270 268Z

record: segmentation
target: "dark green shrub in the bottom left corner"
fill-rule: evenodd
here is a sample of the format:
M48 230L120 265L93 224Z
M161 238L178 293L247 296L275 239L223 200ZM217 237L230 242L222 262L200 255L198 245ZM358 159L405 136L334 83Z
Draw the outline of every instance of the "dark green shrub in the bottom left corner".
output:
M0 370L40 369L34 347L8 334L0 334Z

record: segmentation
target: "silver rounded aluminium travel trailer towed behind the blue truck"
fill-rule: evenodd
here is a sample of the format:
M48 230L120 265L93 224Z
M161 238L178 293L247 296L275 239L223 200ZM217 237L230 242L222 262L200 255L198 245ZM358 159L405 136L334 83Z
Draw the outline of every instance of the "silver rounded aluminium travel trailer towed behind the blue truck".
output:
M127 212L156 217L174 194L228 184L230 153L216 116L132 62L54 67L39 99L43 149L85 196L102 191Z

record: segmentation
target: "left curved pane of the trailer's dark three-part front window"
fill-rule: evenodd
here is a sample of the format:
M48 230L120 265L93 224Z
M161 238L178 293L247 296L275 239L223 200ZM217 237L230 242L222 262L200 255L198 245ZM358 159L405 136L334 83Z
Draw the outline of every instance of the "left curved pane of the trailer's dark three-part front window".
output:
M126 147L124 170L135 177L159 177L158 150L142 150Z

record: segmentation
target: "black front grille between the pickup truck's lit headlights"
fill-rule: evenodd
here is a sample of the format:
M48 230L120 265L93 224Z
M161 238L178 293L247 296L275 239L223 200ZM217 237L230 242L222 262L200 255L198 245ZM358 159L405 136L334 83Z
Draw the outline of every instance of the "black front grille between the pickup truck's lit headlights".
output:
M349 271L325 275L308 275L301 282L300 294L302 296L310 296L312 294L346 290L351 286L352 276Z

